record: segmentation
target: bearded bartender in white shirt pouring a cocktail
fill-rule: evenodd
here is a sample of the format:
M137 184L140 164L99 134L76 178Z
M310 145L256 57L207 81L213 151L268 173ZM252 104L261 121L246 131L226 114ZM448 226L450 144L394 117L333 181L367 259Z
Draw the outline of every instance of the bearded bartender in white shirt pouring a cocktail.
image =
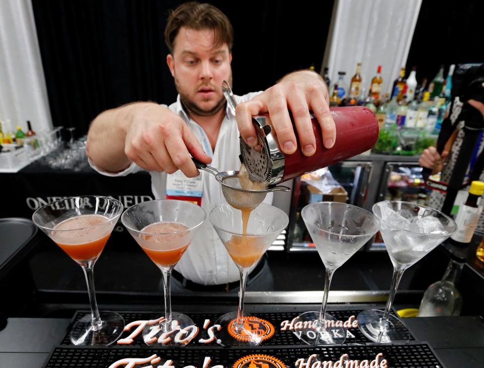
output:
M195 178L190 180L192 184L195 180L196 190L188 195L201 196L198 200L208 214L225 200L218 182L199 173L191 156L220 171L238 170L239 134L251 146L257 142L252 116L270 115L284 153L293 153L300 144L302 152L311 156L316 149L311 110L321 124L324 146L334 145L328 88L312 71L288 74L263 92L235 96L239 103L235 114L227 107L221 86L223 80L232 84L233 29L219 9L209 4L180 5L169 15L164 35L176 102L170 106L133 102L99 114L89 128L86 146L89 162L99 173L124 176L147 170L157 199L170 198L170 193L183 189L184 180ZM271 202L272 196L266 201ZM236 290L238 280L235 264L205 221L175 267L172 292ZM273 288L264 258L247 285L252 290Z

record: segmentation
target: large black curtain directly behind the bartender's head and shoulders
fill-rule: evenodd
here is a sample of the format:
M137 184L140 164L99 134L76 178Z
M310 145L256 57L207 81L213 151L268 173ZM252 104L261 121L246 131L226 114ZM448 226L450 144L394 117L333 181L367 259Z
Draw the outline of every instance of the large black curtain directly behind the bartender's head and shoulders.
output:
M234 27L234 92L266 89L313 63L319 69L333 2L209 1ZM32 0L54 125L83 134L105 109L138 100L174 102L163 30L168 10L181 3Z

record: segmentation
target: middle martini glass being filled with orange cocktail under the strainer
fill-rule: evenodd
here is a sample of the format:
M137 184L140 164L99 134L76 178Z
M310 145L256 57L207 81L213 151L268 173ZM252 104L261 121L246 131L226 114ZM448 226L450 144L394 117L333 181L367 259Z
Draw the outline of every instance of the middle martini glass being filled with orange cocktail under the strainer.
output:
M220 317L215 324L217 342L222 346L259 345L274 333L273 327L264 320L244 314L244 293L250 269L264 255L269 246L289 222L287 215L269 204L259 204L252 210L243 230L242 212L229 204L222 204L210 212L209 219L228 254L240 272L240 294L237 312Z

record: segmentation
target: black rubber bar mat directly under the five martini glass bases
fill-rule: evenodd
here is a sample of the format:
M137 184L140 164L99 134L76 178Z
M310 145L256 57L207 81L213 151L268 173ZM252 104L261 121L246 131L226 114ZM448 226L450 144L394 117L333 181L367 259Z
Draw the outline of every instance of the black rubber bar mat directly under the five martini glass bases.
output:
M294 318L299 316L299 314L308 311L308 310L301 310L300 312L273 312L273 313L267 313L267 312L257 312L255 313L257 317L264 319L268 322L270 322L274 326L274 335L272 338L263 341L261 345L263 346L283 346L283 345L306 345L305 342L302 342L299 340L292 331L286 330L286 331L281 331L281 323L283 321L292 321ZM346 321L348 320L351 316L357 317L358 313L361 310L330 310L329 313L336 318L337 320L340 321ZM78 311L76 312L73 322L76 322L85 314L88 314L88 311ZM126 312L126 311L121 311L119 314L123 316L125 319L126 325L128 325L131 322L134 321L143 321L143 320L154 320L159 317L162 317L164 314L163 311L160 312ZM208 338L208 329L210 326L213 326L215 321L217 320L218 317L221 316L221 313L205 313L205 312L185 312L188 316L192 318L192 320L195 322L195 324L199 327L200 332L197 335L197 337L190 342L189 346L218 346L216 342L210 343L209 345L207 344L202 344L199 342L200 339L207 339ZM210 320L210 324L207 326L207 329L204 329L204 321L205 320ZM72 324L71 324L72 326ZM123 334L120 336L120 339L124 339L127 336L129 336L133 331L135 330L135 327L131 329L131 331L126 331L123 332ZM70 328L69 328L70 331ZM346 337L345 344L366 344L366 343L372 343L367 337L365 337L358 328L350 328L348 329L349 334ZM407 336L406 334L408 333L406 330L402 331L404 335L402 336ZM404 337L402 337L404 339ZM410 341L415 341L413 336L410 334ZM61 345L71 345L71 340L69 338L69 332L66 334L64 339L61 342ZM114 344L116 345L116 344ZM120 344L117 344L117 346L123 346ZM126 346L126 345L124 345ZM136 338L134 338L134 341L129 344L129 346L144 346L146 347L147 345L144 343L141 334L139 334Z

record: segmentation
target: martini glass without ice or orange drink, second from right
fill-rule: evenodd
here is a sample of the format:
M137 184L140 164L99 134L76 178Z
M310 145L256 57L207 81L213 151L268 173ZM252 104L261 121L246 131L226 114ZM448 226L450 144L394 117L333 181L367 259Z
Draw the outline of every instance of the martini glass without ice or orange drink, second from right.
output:
M334 272L380 229L380 221L365 209L340 203L317 202L302 208L302 219L326 269L323 303L320 311L300 314L301 330L294 334L310 345L342 344L346 328L326 312ZM344 321L343 321L344 322Z

